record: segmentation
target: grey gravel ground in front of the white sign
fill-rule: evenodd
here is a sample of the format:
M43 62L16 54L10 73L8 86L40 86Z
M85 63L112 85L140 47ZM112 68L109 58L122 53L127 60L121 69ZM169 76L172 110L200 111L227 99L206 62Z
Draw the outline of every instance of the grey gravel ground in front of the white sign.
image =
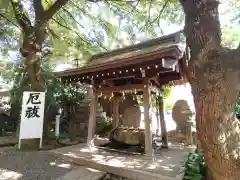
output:
M57 180L73 168L47 151L0 148L0 180Z

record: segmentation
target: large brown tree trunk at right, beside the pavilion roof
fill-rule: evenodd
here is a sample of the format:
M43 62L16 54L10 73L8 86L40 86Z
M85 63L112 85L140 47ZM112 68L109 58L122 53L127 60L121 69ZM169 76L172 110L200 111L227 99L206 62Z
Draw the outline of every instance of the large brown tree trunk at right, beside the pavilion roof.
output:
M221 47L216 0L180 2L186 15L187 45L191 49L187 78L209 176L213 180L238 180L240 129L235 116L238 93L233 65L239 64L236 61L239 53Z

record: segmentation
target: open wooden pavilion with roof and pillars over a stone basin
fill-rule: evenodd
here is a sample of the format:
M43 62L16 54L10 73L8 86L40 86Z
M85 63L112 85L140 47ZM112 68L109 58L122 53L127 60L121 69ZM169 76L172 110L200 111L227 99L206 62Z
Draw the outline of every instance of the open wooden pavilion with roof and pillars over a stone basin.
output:
M99 95L111 96L114 101L113 122L119 122L119 101L127 94L143 96L144 149L152 156L151 95L162 95L166 84L185 82L187 67L185 37L181 32L92 56L84 67L59 72L66 83L81 82L90 85L90 115L87 143L90 145L96 126L96 107ZM114 99L116 97L116 99ZM161 98L162 99L162 98ZM163 100L162 100L163 101ZM167 145L163 113L160 113L161 136Z

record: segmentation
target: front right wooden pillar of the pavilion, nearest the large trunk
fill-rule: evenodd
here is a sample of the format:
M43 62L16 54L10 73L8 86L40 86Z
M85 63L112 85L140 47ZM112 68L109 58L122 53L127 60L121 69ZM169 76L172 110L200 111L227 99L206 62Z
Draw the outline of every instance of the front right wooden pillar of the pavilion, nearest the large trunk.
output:
M153 156L152 151L152 129L151 129L151 118L150 118L150 89L148 78L144 79L143 88L143 104L144 104L144 123L145 123L145 154L149 157Z

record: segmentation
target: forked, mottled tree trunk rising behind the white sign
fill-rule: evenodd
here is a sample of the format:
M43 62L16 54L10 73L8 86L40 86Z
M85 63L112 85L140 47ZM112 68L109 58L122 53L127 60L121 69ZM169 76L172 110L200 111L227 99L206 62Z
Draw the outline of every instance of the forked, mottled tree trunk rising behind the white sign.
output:
M23 43L20 52L25 58L24 64L28 72L32 90L44 92L45 80L42 73L42 46L47 36L47 23L59 9L69 2L69 0L56 0L46 11L40 0L33 0L33 9L35 11L34 24L31 23L30 18L27 13L25 13L21 1L10 0L10 2L13 7L16 21L22 29ZM44 121L45 129L47 126L46 123L47 122Z

